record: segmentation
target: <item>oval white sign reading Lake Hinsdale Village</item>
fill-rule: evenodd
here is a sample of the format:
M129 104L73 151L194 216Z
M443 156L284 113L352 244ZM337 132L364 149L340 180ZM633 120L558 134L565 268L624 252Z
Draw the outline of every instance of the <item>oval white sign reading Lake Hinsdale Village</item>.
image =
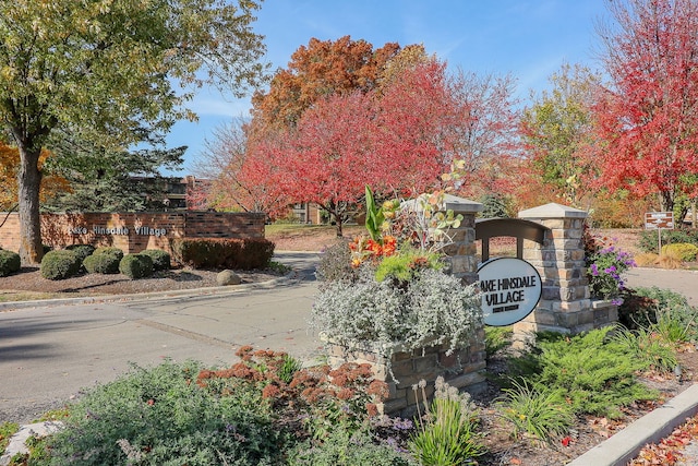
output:
M541 276L521 259L492 259L480 265L478 275L486 325L516 323L531 313L541 298Z

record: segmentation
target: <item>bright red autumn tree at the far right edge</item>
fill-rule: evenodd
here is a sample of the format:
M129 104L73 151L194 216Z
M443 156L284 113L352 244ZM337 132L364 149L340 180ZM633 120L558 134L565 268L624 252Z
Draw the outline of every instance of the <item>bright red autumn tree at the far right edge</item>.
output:
M612 85L595 107L599 180L657 194L672 211L682 193L697 194L698 2L609 0L607 8L614 23L599 32Z

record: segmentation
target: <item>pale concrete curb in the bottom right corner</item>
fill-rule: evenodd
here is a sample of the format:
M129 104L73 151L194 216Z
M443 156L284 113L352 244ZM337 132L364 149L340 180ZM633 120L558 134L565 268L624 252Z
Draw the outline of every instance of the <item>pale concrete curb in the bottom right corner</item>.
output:
M698 413L698 383L642 416L567 466L627 465L648 443L657 443Z

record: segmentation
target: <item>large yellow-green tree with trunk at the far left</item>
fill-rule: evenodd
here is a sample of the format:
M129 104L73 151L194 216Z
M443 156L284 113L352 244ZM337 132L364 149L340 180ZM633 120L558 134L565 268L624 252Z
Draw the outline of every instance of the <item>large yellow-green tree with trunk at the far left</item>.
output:
M51 133L123 148L164 134L204 83L242 95L264 67L260 0L0 2L0 120L20 150L20 255L41 259L38 158ZM181 86L179 88L178 86Z

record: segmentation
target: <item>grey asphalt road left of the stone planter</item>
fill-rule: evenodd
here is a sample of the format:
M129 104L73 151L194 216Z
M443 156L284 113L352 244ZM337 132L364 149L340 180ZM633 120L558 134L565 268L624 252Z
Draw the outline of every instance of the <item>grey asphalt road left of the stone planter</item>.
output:
M321 344L309 331L316 254L279 254L297 271L273 288L0 312L0 422L27 422L116 379L130 367L194 359L236 361L242 345L304 361Z

